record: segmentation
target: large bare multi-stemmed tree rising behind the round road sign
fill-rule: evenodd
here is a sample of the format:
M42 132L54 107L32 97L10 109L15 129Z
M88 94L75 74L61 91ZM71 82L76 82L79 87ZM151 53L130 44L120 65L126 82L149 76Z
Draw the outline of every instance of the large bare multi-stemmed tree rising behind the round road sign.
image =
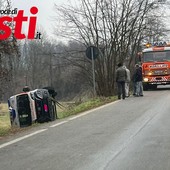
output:
M95 60L98 95L114 94L116 65L134 64L148 28L152 29L146 24L148 16L158 5L153 0L81 0L78 7L55 5L57 21L60 18L62 23L62 33L58 25L55 33L81 42L84 49L95 45L100 50ZM158 29L152 32L158 35Z

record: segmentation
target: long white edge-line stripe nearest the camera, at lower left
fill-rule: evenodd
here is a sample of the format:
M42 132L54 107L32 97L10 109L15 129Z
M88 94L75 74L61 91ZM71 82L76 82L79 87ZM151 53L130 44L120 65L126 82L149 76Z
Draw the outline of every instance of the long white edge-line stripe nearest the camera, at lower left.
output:
M23 137L14 139L14 140L12 140L12 141L10 141L10 142L6 142L6 143L0 145L0 149L1 149L1 148L4 148L4 147L6 147L6 146L12 145L12 144L14 144L14 143L17 143L17 142L19 142L19 141L21 141L21 140L24 140L24 139L26 139L26 138L29 138L29 137L31 137L31 136L34 136L34 135L36 135L36 134L38 134L38 133L44 132L44 131L46 131L46 130L47 130L47 129L38 130L38 131L36 131L36 132L34 132L34 133L31 133L31 134L29 134L29 135L25 135L25 136L23 136Z

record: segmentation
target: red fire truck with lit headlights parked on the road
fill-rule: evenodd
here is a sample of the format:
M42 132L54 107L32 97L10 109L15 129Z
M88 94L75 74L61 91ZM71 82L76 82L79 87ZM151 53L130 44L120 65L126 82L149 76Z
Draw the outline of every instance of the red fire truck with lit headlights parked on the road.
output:
M147 44L146 47L141 55L144 90L170 84L170 44Z

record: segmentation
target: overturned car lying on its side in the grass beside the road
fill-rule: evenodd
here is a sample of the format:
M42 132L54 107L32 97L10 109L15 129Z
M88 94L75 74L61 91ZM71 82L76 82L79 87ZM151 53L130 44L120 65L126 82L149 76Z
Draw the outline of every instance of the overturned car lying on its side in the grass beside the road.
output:
M11 126L26 127L57 119L55 91L35 89L11 96L8 99Z

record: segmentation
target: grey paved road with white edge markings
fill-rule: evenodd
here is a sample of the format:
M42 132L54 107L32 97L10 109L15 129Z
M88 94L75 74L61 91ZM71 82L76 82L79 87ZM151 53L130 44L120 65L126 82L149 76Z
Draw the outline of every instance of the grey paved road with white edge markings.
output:
M0 170L170 170L169 132L169 89L147 91L0 141Z

